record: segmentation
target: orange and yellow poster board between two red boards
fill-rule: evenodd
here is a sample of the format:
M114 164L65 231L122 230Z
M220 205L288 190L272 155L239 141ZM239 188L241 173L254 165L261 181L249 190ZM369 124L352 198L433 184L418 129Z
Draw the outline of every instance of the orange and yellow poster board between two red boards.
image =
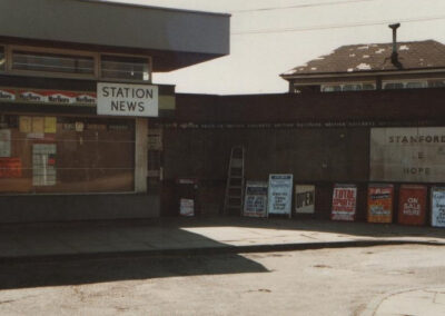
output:
M393 185L369 185L368 223L393 221Z

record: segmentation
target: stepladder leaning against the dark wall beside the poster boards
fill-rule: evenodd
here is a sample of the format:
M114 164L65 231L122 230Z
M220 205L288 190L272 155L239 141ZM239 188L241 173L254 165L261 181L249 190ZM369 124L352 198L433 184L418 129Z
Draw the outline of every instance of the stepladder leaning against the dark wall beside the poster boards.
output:
M227 175L226 196L224 199L225 215L241 215L244 197L244 155L243 146L235 146L230 151Z

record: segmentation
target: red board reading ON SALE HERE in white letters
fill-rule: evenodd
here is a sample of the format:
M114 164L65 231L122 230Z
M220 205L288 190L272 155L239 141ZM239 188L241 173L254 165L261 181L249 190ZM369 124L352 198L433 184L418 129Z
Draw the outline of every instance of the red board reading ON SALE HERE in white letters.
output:
M400 186L398 198L398 223L406 225L425 225L426 187Z

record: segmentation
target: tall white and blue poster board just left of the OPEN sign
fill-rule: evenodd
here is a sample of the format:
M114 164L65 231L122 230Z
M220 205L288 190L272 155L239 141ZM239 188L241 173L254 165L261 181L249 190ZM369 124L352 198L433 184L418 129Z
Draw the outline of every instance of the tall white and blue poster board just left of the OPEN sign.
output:
M291 216L293 175L269 175L268 211Z

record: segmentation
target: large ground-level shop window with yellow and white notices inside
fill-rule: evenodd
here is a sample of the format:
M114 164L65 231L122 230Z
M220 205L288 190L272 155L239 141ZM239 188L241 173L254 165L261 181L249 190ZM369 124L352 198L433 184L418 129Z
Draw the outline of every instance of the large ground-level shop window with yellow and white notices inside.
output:
M129 192L134 182L134 120L1 117L1 194Z

